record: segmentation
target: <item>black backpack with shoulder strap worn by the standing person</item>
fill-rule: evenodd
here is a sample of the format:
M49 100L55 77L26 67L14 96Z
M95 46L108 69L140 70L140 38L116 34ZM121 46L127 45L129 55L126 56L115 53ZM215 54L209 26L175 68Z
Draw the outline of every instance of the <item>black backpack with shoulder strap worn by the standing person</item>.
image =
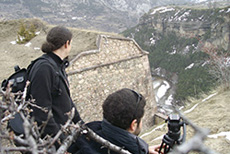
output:
M12 88L11 92L13 92L13 93L17 93L20 91L23 92L25 89L25 86L26 86L26 82L29 78L30 71L31 71L32 67L34 66L34 64L39 60L49 61L49 63L56 70L57 74L59 74L59 69L58 69L56 62L51 57L44 54L43 56L32 61L27 68L20 69L20 67L18 65L15 66L14 67L15 72L12 75L10 75L10 77L8 77L8 79L5 79L2 81L1 88L5 91L8 84L11 83L11 88ZM33 74L33 72L32 72L32 74ZM59 79L59 77L57 77L57 79ZM57 82L59 82L59 81L56 81L56 83ZM56 87L58 87L58 86L59 86L59 84L57 83ZM27 91L29 92L29 88ZM28 95L29 95L29 93L27 93L27 96ZM16 135L24 134L23 119L21 118L19 113L16 113L14 115L14 118L9 120L7 127L10 130L14 131L14 133Z

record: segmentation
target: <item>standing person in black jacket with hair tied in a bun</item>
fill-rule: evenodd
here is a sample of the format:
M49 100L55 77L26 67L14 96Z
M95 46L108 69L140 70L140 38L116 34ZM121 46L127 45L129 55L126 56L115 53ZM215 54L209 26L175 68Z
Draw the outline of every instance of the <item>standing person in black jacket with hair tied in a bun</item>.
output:
M54 136L68 119L67 112L75 108L73 122L81 120L79 113L70 97L69 82L65 72L68 66L67 57L71 50L72 33L65 27L52 28L42 45L45 53L38 58L29 73L29 94L35 99L35 104L48 109L52 113L42 137ZM48 119L48 112L33 107L32 115L38 125ZM65 135L61 135L61 140ZM57 146L57 145L56 145Z

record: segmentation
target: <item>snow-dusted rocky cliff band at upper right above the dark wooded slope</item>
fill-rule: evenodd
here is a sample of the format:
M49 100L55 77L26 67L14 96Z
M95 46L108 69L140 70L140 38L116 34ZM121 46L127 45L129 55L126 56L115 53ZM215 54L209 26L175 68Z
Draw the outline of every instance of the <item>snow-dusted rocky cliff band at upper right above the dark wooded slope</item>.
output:
M217 48L230 50L230 7L194 9L160 7L152 9L140 19L140 25L149 25L156 33L176 32L178 36L203 36Z

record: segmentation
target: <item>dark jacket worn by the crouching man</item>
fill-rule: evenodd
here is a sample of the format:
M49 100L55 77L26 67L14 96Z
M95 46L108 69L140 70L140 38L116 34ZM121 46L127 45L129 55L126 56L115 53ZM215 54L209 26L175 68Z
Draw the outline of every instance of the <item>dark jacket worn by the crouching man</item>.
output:
M148 144L145 141L124 129L111 125L106 120L91 122L87 125L104 139L123 147L132 154L148 154ZM75 150L75 154L108 154L107 148L93 140L86 139L85 136L78 138L70 149L72 149L71 151ZM110 151L110 153L116 154L113 151Z

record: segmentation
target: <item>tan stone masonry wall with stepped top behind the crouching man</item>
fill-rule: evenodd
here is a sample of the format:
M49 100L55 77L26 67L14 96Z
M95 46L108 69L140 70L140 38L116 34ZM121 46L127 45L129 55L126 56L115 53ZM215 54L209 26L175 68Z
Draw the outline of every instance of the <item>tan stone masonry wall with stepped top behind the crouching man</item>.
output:
M99 35L95 50L72 57L68 75L73 101L84 121L102 119L102 103L121 88L134 89L147 100L144 126L153 124L156 103L148 52L128 38Z

